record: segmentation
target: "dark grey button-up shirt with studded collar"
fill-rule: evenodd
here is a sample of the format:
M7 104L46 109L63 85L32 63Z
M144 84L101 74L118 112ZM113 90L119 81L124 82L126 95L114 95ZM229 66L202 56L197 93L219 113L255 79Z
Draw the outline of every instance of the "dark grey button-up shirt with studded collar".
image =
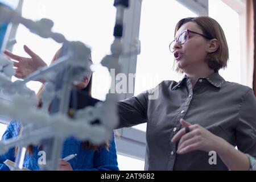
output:
M228 170L218 157L210 164L209 152L176 154L171 139L184 118L205 127L238 150L256 157L256 100L247 86L225 81L218 73L199 78L163 81L137 97L118 102L120 127L147 122L146 170ZM136 148L134 148L136 150Z

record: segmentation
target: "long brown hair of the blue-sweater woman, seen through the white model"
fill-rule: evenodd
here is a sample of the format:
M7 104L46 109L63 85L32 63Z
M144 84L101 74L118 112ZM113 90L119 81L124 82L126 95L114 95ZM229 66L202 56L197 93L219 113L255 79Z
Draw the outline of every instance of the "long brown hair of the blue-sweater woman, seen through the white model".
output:
M55 53L55 55L53 56L53 59L52 59L51 63L53 63L53 62L55 62L57 59L59 59L60 53L61 53L61 48ZM92 60L90 60L90 61L92 61ZM38 100L39 100L39 101L38 101L38 105L37 105L38 108L39 108L39 107L42 107L41 94L42 94L43 89L44 89L44 85L42 85L42 86L40 87L38 93L36 94L36 96L38 97ZM89 96L92 96L92 76L90 77L90 81L89 81L88 85L86 86L86 88L85 88L84 90L89 94ZM70 117L72 117L73 111L69 110L68 114L69 114ZM22 126L20 127L19 133L22 134ZM101 146L97 146L97 145L94 145L94 144L92 144L92 143L90 143L90 142L88 142L88 141L83 141L83 142L81 143L81 147L82 147L83 149L86 149L86 148L87 148L87 149L94 150L94 151L98 150L100 147L105 147L106 150L109 151L109 142L106 141L106 142L105 142L104 144L102 144ZM32 145L27 146L27 152L28 152L28 154L30 154L30 155L32 154L32 148L33 148ZM16 151L17 151L17 148L15 148L15 153L16 153Z

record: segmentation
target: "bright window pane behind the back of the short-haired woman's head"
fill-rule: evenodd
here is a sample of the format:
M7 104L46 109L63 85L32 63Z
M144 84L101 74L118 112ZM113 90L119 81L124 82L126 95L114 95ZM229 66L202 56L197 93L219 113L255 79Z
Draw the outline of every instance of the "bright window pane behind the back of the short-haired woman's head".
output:
M220 75L227 81L243 84L241 73L240 16L221 0L209 0L209 16L220 23L229 46L228 68L225 70L221 69Z

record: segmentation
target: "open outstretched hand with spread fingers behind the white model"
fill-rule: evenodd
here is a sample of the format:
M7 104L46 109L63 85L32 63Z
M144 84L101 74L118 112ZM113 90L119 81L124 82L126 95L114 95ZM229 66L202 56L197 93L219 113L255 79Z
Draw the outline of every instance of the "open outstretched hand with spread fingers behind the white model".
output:
M27 54L30 55L30 58L20 57L18 55L14 55L9 51L4 52L5 55L10 59L18 61L18 62L14 62L14 67L16 67L15 77L20 79L26 78L28 75L35 72L39 68L45 67L47 65L38 55L36 55L36 53L31 51L30 48L28 48L27 46L24 46L23 48L24 48L24 51L26 51ZM43 82L43 80L35 80L35 81Z

